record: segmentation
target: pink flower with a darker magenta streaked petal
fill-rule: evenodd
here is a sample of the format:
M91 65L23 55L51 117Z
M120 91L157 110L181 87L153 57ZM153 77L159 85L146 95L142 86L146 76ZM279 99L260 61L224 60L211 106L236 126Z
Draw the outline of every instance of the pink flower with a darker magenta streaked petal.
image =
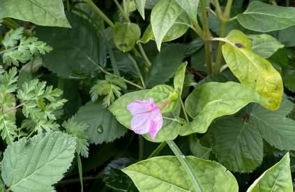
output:
M163 119L162 113L153 99L135 100L127 106L127 109L133 115L131 129L135 134L149 133L151 138L155 139L158 131L162 128Z

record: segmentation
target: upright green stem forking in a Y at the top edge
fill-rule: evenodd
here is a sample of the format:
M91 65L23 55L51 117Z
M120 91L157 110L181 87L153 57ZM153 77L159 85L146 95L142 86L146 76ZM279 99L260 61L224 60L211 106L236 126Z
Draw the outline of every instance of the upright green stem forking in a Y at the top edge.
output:
M218 0L215 0L216 14L220 21L219 36L220 38L225 37L225 29L227 27L227 22L229 22L230 11L232 10L232 0L227 0L227 5L225 6L225 12L222 13L220 9L220 4ZM218 74L220 72L221 62L222 62L222 45L223 42L218 42L218 49L215 60L214 73Z

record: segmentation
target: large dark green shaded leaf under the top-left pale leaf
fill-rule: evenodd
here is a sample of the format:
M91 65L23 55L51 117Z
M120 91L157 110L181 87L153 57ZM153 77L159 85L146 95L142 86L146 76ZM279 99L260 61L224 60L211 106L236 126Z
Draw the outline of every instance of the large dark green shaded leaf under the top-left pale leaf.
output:
M63 78L81 78L96 75L100 58L96 29L86 19L67 13L72 29L38 27L40 40L53 47L44 56L45 67Z

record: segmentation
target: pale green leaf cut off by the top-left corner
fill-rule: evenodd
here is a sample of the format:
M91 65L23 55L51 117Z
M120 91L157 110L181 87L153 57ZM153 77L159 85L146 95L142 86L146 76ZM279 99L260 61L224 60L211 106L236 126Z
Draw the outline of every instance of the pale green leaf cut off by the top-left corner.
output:
M0 1L0 18L12 17L42 26L70 27L62 0Z

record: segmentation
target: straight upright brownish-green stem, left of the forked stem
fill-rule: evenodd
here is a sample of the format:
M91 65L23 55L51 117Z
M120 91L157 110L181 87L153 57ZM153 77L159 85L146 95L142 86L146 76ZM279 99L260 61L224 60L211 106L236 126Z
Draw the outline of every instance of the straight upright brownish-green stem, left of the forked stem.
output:
M207 10L206 10L206 0L201 0L201 13L202 13L202 24L204 29L204 46L205 46L205 52L206 52L206 66L207 66L207 72L208 74L211 74L212 72L212 52L211 52L211 42L209 41L211 38L211 33L209 30L209 24L208 24L208 17L207 17Z

